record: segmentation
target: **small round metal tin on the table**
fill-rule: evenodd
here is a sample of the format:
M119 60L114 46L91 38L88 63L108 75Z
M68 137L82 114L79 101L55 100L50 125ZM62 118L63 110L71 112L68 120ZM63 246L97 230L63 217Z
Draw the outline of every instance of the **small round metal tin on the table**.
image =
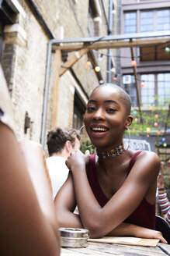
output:
M60 228L61 247L81 248L88 246L87 229Z

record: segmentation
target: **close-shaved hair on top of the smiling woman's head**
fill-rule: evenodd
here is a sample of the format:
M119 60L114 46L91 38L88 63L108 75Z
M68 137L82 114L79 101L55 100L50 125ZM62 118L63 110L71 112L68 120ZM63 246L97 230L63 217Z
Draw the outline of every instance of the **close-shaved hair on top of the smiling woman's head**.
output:
M126 91L124 91L120 86L116 85L116 84L99 84L97 87L95 87L95 89L93 91L95 91L97 88L99 87L112 87L114 89L116 89L117 91L119 91L120 94L120 100L122 101L124 108L125 108L125 112L127 114L127 116L130 116L130 111L131 111L131 99L130 99L130 95L127 94ZM93 92L92 91L92 92Z

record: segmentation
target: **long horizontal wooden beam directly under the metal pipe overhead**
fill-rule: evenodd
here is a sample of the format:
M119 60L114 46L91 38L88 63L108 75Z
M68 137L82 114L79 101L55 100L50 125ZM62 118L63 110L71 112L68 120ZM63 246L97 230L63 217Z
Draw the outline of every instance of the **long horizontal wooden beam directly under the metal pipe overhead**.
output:
M170 37L165 38L154 38L144 40L133 40L133 41L98 41L92 44L83 43L62 43L59 45L53 45L53 49L60 49L62 52L74 52L78 50L99 50L108 48L130 48L130 47L149 47L157 44L165 44L170 40Z

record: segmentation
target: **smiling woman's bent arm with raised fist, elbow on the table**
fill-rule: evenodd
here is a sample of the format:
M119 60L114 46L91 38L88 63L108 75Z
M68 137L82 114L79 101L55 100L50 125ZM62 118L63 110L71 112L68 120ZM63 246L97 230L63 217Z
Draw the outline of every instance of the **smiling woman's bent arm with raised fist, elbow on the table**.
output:
M89 229L90 236L105 236L134 212L146 196L151 184L156 183L160 161L152 152L141 152L123 186L101 208L88 183L85 159L86 156L80 151L73 152L68 158L68 165L73 174L78 210L83 226ZM87 218L87 216L90 217Z

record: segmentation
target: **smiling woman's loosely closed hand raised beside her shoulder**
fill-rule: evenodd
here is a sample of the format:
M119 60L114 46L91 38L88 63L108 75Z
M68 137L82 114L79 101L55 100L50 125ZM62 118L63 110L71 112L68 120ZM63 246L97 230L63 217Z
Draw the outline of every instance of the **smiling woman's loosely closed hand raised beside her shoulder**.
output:
M83 154L82 151L72 151L71 155L66 160L66 165L71 172L76 172L77 170L85 169L85 166L88 165L89 162L89 155Z

